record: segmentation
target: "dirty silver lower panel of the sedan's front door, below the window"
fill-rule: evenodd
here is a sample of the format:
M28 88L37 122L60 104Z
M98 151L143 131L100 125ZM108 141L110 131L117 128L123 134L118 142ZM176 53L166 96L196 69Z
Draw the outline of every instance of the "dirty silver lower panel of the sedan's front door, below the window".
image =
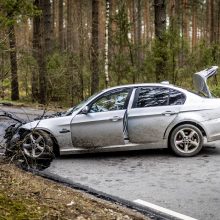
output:
M79 114L71 121L74 147L94 148L124 144L125 110Z

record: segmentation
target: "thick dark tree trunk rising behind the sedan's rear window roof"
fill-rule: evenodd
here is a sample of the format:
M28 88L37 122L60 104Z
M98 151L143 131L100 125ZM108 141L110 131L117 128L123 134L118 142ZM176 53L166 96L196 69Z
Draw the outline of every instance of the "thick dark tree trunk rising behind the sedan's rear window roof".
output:
M155 10L155 40L156 40L156 80L167 79L167 42L166 42L166 4L165 0L154 0Z

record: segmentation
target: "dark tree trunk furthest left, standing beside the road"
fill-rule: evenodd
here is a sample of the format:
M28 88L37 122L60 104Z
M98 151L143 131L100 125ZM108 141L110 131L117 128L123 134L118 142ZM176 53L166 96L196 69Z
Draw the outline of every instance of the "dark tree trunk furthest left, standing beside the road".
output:
M16 53L16 38L15 27L11 24L8 28L8 37L10 45L10 62L11 62L11 99L16 101L19 99L19 85L17 75L17 53Z

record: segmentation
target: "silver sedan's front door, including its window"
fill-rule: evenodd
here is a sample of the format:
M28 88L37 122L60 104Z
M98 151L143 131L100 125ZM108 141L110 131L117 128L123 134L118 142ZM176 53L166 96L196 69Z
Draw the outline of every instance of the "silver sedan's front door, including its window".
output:
M87 114L71 121L74 147L97 148L124 144L124 119L130 88L108 91L88 105Z

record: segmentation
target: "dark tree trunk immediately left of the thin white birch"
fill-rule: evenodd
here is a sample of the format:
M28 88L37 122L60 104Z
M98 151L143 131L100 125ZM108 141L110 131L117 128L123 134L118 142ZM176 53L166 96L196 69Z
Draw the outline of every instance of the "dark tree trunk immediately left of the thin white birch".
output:
M91 93L99 89L99 0L92 0Z

